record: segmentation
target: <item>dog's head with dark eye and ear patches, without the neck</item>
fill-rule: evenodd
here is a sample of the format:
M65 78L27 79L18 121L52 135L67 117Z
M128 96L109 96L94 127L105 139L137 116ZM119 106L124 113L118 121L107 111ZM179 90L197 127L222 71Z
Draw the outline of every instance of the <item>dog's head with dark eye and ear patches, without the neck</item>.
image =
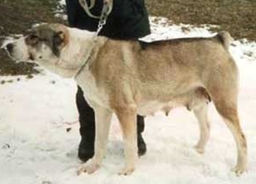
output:
M10 56L17 61L56 62L61 49L69 41L69 32L61 24L42 24L29 30L6 45Z

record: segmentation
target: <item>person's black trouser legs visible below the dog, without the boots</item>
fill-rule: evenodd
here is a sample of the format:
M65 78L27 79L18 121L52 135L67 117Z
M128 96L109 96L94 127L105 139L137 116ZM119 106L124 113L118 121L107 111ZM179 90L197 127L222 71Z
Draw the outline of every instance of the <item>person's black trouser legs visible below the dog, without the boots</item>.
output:
M88 141L88 143L94 144L95 140L95 116L93 109L84 99L83 90L78 86L77 89L77 109L79 113L80 122L80 135ZM138 135L144 131L145 123L144 117L137 116L137 132Z

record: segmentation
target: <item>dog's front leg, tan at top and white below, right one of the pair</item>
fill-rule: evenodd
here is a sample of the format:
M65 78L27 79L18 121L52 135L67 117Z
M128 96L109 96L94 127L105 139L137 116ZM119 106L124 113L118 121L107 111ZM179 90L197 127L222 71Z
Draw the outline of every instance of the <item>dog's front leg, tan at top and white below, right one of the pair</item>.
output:
M125 168L119 174L129 175L134 171L138 152L136 109L121 108L117 109L116 113L125 142Z

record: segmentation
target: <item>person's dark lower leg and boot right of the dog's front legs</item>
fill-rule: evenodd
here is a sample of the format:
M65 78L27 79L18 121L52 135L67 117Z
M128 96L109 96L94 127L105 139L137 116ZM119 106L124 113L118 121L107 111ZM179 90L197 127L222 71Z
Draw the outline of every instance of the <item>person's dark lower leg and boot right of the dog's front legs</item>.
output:
M146 152L145 141L142 137L142 132L145 128L144 117L137 115L137 134L138 134L138 156L142 156Z

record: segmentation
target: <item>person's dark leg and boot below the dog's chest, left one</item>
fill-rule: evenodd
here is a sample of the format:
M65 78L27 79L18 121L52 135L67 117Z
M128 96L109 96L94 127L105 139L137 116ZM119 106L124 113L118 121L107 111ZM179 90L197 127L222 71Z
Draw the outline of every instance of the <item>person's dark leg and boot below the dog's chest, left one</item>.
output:
M94 155L95 118L93 109L85 101L84 93L79 87L77 90L77 110L81 135L78 158L81 161L88 161Z

